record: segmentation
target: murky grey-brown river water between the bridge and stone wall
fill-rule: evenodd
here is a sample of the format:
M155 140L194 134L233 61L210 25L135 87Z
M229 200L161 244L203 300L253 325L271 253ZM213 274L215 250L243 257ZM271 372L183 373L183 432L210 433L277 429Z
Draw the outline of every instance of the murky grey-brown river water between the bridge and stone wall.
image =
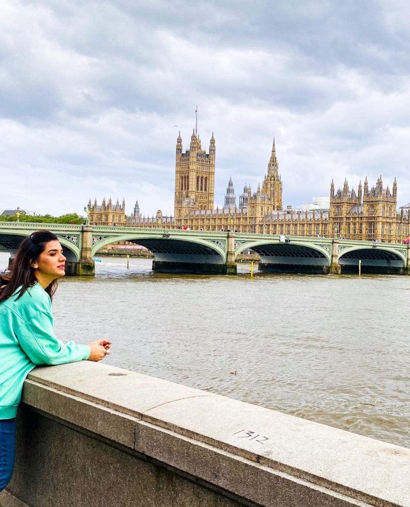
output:
M8 254L0 253L0 269ZM406 276L164 275L101 258L53 303L62 340L107 364L410 447Z

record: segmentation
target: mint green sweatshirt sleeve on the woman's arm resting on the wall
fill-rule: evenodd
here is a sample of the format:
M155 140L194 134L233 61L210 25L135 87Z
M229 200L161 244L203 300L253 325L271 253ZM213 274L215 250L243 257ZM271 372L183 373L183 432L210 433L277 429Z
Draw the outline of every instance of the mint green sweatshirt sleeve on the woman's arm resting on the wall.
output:
M75 342L64 344L54 335L51 311L37 308L36 314L17 331L21 348L35 365L62 365L88 359L90 348Z

